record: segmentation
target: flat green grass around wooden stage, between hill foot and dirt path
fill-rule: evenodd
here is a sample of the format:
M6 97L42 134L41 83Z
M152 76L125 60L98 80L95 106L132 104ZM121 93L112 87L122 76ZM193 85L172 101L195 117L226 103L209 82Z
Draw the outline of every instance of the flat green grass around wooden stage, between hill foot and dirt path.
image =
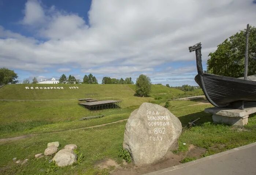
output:
M115 122L129 117L130 112L152 98L124 97L122 108L90 112L77 100L0 101L0 138L24 134L77 129ZM131 106L132 105L132 106ZM82 117L105 115L104 118L79 121Z

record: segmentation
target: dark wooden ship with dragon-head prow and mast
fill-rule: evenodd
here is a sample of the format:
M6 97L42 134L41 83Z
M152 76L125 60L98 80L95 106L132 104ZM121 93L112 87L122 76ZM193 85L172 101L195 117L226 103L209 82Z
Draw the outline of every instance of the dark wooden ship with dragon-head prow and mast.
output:
M247 28L248 29L248 28ZM247 32L248 33L248 32ZM248 55L248 37L246 37ZM247 80L247 64L245 59L245 78L232 78L203 72L201 43L189 47L189 52L196 51L198 74L195 81L202 88L207 100L216 107L244 109L244 103L256 101L256 81ZM247 57L248 59L248 57Z

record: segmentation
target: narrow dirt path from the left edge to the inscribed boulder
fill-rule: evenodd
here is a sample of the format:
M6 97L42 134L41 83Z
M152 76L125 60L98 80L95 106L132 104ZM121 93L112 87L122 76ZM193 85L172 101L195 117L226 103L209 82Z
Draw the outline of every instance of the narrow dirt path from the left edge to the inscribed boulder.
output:
M109 125L109 124L114 124L114 123L123 122L123 121L126 121L126 120L128 120L128 119L118 120L118 121L116 121L116 122L111 122L111 123L99 124L99 125L95 125L95 126L89 126L89 127L83 127L83 128L76 128L76 129L70 129L70 130L52 131L52 132L49 132L49 133L38 133L38 134L21 135L21 136L18 136L18 137L2 138L2 139L0 139L0 142L7 142L7 141L20 140L20 139L27 138L27 137L33 137L33 136L35 136L35 135L43 135L43 134L51 134L51 133L60 133L60 132L63 132L63 131L75 131L75 130L80 130L80 129L89 129L89 128L101 127L101 126L106 126L106 125Z

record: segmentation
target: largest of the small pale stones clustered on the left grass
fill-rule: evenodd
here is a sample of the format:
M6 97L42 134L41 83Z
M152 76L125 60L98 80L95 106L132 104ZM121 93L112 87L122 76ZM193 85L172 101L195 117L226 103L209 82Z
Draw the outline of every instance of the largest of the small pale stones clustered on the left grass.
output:
M59 167L72 165L77 161L77 154L70 149L59 150L52 159Z

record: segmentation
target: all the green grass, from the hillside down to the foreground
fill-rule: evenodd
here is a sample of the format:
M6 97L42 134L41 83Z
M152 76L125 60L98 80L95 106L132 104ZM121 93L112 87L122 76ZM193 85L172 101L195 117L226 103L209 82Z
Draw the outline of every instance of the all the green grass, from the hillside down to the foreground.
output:
M127 119L131 111L143 102L164 105L171 93L176 96L181 93L178 89L173 90L163 85L153 85L151 97L145 98L133 96L134 85L78 85L79 89L69 90L68 88L60 91L26 90L25 86L4 86L0 89L0 98L70 99L79 98L85 93L100 93L102 97L122 97L122 108L89 112L79 106L76 100L0 101L0 138L44 133L17 141L0 142L0 174L109 174L110 170L97 170L94 165L104 158L122 162L118 151L123 142L126 121L91 129L81 128ZM51 87L51 85L48 86ZM68 87L68 85L62 86ZM197 94L200 90L190 93ZM155 97L161 97L161 99L154 100ZM186 153L188 146L193 144L205 148L206 152L203 156L208 156L256 141L256 115L250 115L249 123L244 127L246 130L240 131L239 127L214 124L211 114L204 112L205 108L212 105L195 105L197 103L199 103L197 100L170 101L168 109L179 118L183 127L188 125L188 122L200 118L195 123L196 126L182 131L179 137L179 148L174 153ZM84 116L101 114L105 116L79 121ZM48 160L51 157L34 159L35 154L43 153L47 143L53 141L60 142L60 149L66 144L76 144L79 153L82 153L85 159L79 164L64 168L49 164ZM29 159L29 161L25 165L19 165L12 161L14 157L21 160ZM185 157L182 162L194 159L194 157Z

